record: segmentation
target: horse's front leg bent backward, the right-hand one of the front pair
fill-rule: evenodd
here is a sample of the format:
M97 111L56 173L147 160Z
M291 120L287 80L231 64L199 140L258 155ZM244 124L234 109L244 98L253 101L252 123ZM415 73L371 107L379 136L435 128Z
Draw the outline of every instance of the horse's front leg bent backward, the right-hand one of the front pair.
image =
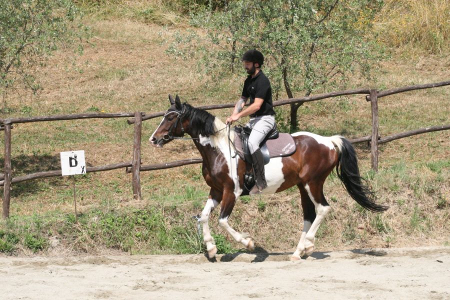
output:
M232 191L224 190L220 207L219 225L220 227L225 229L234 238L235 241L242 243L244 247L247 248L247 250L253 251L254 243L251 238L244 238L241 233L236 232L236 230L231 228L231 226L228 224L228 217L233 210L235 202L236 196L234 195L234 193Z

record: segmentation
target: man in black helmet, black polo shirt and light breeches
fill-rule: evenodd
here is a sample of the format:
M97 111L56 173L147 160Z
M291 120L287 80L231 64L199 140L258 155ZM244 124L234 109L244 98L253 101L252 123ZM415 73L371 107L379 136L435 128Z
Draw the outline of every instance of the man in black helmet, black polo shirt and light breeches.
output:
M232 114L226 118L226 123L237 121L242 116L250 116L247 126L252 128L248 137L248 148L251 154L256 186L259 190L267 187L264 176L264 158L259 144L267 133L275 126L275 111L272 104L272 88L270 81L261 70L264 56L256 49L248 50L241 60L248 74L242 88L242 95L234 106ZM250 105L243 109L250 98Z

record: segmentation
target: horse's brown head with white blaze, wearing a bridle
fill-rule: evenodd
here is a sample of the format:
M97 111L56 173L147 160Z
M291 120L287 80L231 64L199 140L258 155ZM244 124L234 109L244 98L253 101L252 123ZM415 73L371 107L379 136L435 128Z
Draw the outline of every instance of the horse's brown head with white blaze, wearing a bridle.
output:
M159 126L150 136L150 143L154 147L162 147L163 144L171 141L175 136L183 136L183 116L185 113L184 104L181 104L178 95L173 100L169 95L171 106L165 112Z

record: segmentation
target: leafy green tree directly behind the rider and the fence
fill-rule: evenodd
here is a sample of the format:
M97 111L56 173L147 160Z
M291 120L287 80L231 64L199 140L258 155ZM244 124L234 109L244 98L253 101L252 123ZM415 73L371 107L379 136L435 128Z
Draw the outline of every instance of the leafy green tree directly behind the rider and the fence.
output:
M192 15L200 32L178 36L168 50L195 56L204 72L219 69L224 75L224 69L236 70L243 51L256 47L266 57L264 72L275 90L282 86L289 98L299 91L308 96L345 86L356 70L369 74L370 63L382 56L367 38L381 5L380 0L230 1L223 10ZM291 130L301 104L291 104Z

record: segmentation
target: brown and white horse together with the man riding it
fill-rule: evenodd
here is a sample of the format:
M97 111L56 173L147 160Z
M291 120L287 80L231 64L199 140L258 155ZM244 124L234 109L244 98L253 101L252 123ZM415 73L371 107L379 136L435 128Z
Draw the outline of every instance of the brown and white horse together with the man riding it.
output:
M278 139L271 139L275 151L268 149L271 158L264 166L259 144L265 135L274 129L275 120L270 82L260 70L263 59L262 54L256 50L247 51L242 56L249 76L244 82L242 95L233 113L226 119L226 123L230 124L242 116L250 116L248 124L252 127L250 132L252 145L246 152L251 152L256 173L256 187L260 191L251 189L245 193L246 158L238 155L239 150L235 146L238 139L235 138L235 132L206 110L181 103L178 95L175 99L169 95L170 107L149 139L154 147L162 147L186 133L198 149L203 160L201 172L210 187L200 217L203 241L210 259L217 253L217 246L208 223L215 207L220 205L218 220L220 227L236 242L252 251L254 242L251 237L237 232L228 223L237 198L242 194L280 192L293 185L297 185L301 196L303 229L291 259L298 260L304 255L310 255L315 249L314 239L320 223L330 210L323 193L323 183L334 168L349 195L362 207L377 212L387 209L387 206L374 201L372 190L359 174L356 152L352 144L342 136L327 137L301 131L285 133L289 141L283 142L284 137L280 137L282 134L280 133ZM243 109L248 98L250 105ZM269 141L262 146L263 149L270 148L268 144ZM286 151L287 149L289 151ZM267 169L266 174L264 167Z

